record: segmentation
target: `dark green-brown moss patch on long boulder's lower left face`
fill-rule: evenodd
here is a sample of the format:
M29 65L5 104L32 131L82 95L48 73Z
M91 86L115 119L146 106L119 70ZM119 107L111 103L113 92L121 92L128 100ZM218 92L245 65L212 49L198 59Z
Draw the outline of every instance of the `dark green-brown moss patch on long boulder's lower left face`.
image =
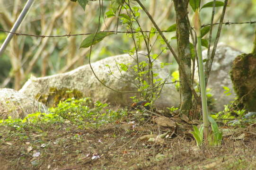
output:
M69 89L69 88L61 88L57 89L56 87L51 87L49 89L49 93L36 94L35 98L44 104L46 104L48 107L56 107L60 101L65 101L69 98L75 98L80 99L83 97L83 93L76 89Z

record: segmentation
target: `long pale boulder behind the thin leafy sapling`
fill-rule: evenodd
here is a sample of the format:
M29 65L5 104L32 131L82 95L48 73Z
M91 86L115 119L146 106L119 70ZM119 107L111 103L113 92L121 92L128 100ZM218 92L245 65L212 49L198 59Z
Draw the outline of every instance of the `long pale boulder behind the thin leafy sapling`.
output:
M139 54L138 57L139 61L147 60L145 55ZM121 75L121 69L117 68L117 63L130 64L128 70L132 70L132 66L136 64L134 57L124 54L108 57L92 63L92 68L105 85L110 86L117 91L136 91L137 88L132 84L132 82L136 82L133 74L130 71L121 71ZM109 74L109 68L114 76ZM158 60L154 62L154 68L156 68L155 72L159 73L159 75L155 77L156 79L162 78L164 80L169 76L168 69L160 68L160 62ZM123 76L124 78L121 78L120 76ZM118 80L118 78L121 78L123 81L129 80L132 82L123 82ZM168 77L167 82L171 81L171 77ZM137 93L117 93L106 88L93 75L89 65L81 66L63 74L30 78L19 92L25 93L33 98L43 96L48 105L53 105L54 102L56 102L53 99L62 99L62 96L57 96L59 95L57 93L62 92L60 95L65 95L67 94L67 91L70 94L75 92L78 96L82 94L84 97L91 97L94 101L106 101L112 104L121 104L126 106L131 104L131 96L138 96ZM47 96L49 97L50 95L51 99L47 98ZM178 103L179 93L177 92L175 85L166 84L164 85L162 93L155 104L157 107L163 108L177 106Z

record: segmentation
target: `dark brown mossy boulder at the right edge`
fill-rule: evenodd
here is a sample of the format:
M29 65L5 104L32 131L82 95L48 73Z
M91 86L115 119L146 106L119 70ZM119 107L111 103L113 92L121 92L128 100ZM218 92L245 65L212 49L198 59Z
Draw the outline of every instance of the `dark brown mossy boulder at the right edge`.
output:
M238 95L238 107L256 111L256 55L250 53L237 56L230 76Z

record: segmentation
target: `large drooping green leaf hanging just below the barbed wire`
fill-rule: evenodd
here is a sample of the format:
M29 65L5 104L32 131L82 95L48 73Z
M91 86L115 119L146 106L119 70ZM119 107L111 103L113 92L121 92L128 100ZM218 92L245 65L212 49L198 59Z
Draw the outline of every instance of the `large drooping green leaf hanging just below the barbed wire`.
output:
M83 42L81 43L79 48L87 48L91 45L97 44L101 40L103 40L106 36L112 35L114 33L108 33L108 32L100 32L97 34L90 34L88 37L86 37Z

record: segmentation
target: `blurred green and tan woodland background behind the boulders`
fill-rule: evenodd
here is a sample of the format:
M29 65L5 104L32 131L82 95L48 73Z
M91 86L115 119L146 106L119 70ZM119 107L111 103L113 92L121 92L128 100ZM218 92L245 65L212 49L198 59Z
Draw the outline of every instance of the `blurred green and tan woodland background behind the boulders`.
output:
M211 0L201 0L205 4ZM175 24L175 12L171 0L142 0L156 23L162 30ZM0 28L10 30L24 7L26 0L0 0ZM135 2L131 2L136 5ZM109 10L110 1L104 1L104 12ZM218 22L222 8L216 8L214 22ZM224 22L256 21L256 0L229 0ZM142 10L140 23L142 30L150 30L152 24ZM189 7L189 17L192 18ZM212 8L201 11L202 24L210 23ZM17 32L35 35L62 35L94 33L98 26L99 3L89 1L85 11L76 2L70 0L35 0ZM99 30L126 31L117 17L107 18L101 15ZM217 26L214 26L215 38ZM219 42L224 42L240 51L249 53L253 47L254 24L223 25ZM177 50L175 32L165 33L171 45ZM0 31L0 45L7 33ZM47 76L69 71L88 63L88 50L79 49L86 36L41 38L33 36L14 36L3 56L0 56L0 87L20 89L26 80L34 75ZM206 36L207 37L207 36ZM159 53L165 47L157 41L152 49ZM128 34L115 34L106 37L93 46L92 61L124 53L133 48ZM141 49L145 44L141 43ZM177 69L173 56L167 51L160 58L163 62L173 63L170 72Z

